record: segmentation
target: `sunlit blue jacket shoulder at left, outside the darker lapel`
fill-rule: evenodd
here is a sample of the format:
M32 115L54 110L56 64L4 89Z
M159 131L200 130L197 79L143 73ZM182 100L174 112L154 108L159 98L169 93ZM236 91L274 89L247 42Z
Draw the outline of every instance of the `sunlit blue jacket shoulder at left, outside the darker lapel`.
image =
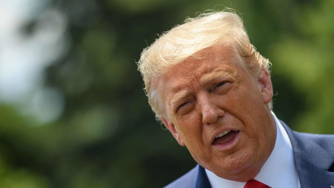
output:
M164 188L193 188L196 186L197 174L198 165Z

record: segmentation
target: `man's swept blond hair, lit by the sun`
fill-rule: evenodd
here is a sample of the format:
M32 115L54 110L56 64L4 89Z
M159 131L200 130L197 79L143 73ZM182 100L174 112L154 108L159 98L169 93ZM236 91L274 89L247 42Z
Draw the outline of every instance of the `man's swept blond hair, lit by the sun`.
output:
M249 41L242 19L232 9L211 11L187 18L183 24L164 32L141 53L138 70L145 82L145 91L156 118L166 117L163 102L153 80L172 66L191 57L200 59L198 52L211 46L231 46L236 58L249 73L259 78L262 67L269 70L270 62L256 51ZM269 104L272 108L272 103Z

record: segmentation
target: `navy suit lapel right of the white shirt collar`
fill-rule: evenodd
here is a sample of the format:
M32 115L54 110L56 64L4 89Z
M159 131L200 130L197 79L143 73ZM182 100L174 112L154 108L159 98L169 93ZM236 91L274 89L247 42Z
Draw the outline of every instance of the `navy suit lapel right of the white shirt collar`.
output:
M281 123L292 144L301 188L334 185L334 172L328 171L334 163L333 156L307 134L292 131L283 121Z

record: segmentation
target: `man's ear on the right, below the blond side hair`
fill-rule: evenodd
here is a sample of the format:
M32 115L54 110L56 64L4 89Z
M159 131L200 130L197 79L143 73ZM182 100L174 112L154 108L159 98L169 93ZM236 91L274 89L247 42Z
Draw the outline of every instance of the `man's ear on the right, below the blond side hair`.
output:
M270 79L269 72L262 66L262 77L258 79L261 86L263 101L268 104L273 99L273 84Z

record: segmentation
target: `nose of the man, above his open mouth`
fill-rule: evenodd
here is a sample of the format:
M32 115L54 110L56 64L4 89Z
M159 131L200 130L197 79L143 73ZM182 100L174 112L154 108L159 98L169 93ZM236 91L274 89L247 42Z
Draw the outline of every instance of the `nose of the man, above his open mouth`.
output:
M201 104L202 122L205 125L217 121L220 117L225 115L224 110L219 108L217 102L204 99Z

